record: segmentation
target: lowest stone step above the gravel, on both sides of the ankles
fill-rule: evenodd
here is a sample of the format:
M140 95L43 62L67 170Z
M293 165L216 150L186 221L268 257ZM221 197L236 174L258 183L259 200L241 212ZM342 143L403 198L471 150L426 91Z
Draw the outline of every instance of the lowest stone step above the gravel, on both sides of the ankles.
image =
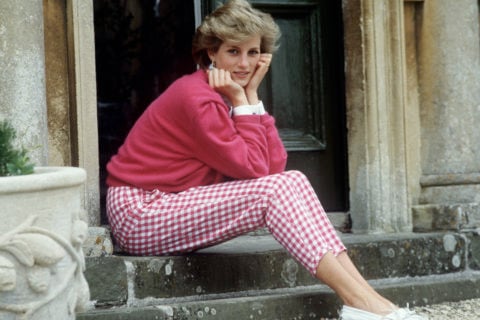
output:
M372 280L372 285L400 306L410 307L459 301L480 296L480 272L465 271L442 276ZM277 290L256 296L196 301L157 301L156 304L96 309L77 314L77 320L292 320L337 317L341 303L331 290L316 285Z

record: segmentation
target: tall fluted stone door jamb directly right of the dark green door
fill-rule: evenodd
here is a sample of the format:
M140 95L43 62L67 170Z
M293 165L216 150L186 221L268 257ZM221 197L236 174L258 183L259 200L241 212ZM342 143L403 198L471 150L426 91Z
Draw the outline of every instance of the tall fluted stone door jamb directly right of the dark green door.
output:
M353 230L410 231L403 0L343 7Z

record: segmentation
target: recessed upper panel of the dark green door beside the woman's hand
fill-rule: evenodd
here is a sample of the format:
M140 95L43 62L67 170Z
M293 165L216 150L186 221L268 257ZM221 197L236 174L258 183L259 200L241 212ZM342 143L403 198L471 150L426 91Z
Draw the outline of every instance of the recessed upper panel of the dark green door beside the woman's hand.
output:
M277 126L289 151L313 151L325 148L323 104L319 77L315 74L309 34L308 12L289 19L277 18L282 29L282 47L272 61L268 81L260 96L277 118Z

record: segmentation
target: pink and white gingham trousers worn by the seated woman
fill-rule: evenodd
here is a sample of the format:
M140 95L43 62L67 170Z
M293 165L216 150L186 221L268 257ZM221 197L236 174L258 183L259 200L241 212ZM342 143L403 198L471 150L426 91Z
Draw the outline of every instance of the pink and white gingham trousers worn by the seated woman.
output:
M135 255L190 252L262 227L313 275L325 253L346 250L299 171L179 193L110 187L107 215L118 245Z

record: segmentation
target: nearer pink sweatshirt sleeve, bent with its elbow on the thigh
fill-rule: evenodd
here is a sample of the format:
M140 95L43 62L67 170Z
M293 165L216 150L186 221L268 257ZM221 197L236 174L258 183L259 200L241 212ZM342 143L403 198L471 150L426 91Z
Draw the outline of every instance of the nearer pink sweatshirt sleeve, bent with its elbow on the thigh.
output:
M190 124L195 140L192 155L231 178L251 179L268 175L271 150L267 127L261 117L230 117L226 106L205 103L196 111Z

